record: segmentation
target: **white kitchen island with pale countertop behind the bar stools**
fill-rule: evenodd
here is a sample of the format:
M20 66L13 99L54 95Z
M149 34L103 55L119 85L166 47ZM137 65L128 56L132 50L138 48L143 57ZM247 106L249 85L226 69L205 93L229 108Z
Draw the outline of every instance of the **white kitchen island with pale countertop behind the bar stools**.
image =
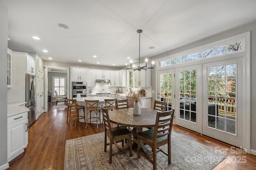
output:
M101 105L105 106L105 99L114 99L114 98L110 98L110 97L84 97L84 98L73 98L73 99L76 99L76 102L78 102L78 105L79 106L84 106L84 109L85 109L85 116L86 116L86 103L84 100L99 100L99 105L98 107L101 107ZM94 114L94 112L92 112L92 114ZM83 113L83 110L80 110L79 111L79 115L80 116L83 116L84 113ZM100 109L100 122L103 121L102 119L102 111ZM92 117L95 117L96 115L92 115ZM90 117L90 114L88 114L88 117ZM81 119L80 121L84 122L83 119ZM92 123L96 123L95 122L92 122ZM98 122L99 123L99 122Z

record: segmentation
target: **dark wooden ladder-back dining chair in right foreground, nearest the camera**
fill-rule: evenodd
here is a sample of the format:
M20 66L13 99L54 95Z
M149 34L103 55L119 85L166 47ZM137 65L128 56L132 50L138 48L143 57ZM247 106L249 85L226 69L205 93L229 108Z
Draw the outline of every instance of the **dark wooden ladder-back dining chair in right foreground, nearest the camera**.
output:
M154 129L138 133L138 158L140 158L140 140L152 148L152 152L144 156L153 164L153 170L156 170L156 153L161 151L168 156L168 164L172 163L171 155L171 133L172 122L174 118L174 109L170 111L161 111L156 114L156 124ZM159 147L168 144L168 153ZM153 156L153 160L150 156Z

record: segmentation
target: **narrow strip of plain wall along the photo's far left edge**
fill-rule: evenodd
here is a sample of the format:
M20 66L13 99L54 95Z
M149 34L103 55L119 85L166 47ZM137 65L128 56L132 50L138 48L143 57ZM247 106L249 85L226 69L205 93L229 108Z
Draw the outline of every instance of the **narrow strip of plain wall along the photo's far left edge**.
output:
M9 167L7 163L7 36L8 10L0 1L0 170Z

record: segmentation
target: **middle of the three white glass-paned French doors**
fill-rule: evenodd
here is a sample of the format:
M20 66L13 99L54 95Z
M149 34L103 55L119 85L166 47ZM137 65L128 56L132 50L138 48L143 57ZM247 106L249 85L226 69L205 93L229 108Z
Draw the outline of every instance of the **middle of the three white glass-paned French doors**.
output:
M201 133L202 65L175 69L176 125Z

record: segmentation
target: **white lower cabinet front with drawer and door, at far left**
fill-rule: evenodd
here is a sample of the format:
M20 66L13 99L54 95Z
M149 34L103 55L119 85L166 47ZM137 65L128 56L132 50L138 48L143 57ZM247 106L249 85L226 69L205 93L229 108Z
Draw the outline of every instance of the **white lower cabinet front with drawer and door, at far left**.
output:
M28 145L28 112L10 116L7 119L7 161L24 152Z

